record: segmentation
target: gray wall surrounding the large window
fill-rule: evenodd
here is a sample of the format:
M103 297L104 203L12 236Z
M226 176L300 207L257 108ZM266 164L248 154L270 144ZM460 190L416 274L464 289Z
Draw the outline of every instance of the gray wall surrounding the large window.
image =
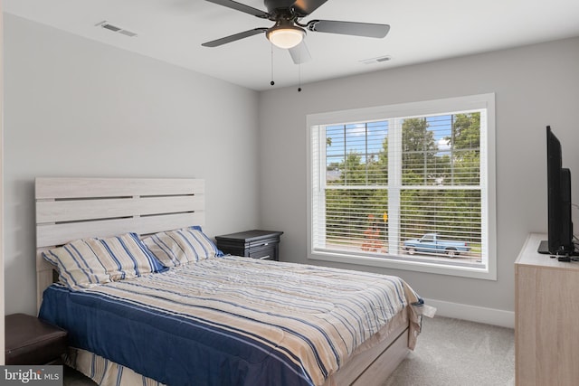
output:
M578 66L575 38L262 92L261 225L285 232L281 259L317 264L306 258L307 114L495 92L498 280L342 267L401 276L422 297L513 311L513 262L528 232L546 231L546 125L564 142L579 202Z

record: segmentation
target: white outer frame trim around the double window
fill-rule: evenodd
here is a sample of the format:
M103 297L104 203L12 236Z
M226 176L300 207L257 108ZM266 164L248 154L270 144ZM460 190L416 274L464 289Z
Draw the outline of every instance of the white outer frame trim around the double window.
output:
M324 173L320 165L313 165L313 150L316 141L326 141L326 138L316 138L317 127L329 125L343 125L356 122L403 118L413 116L427 116L444 114L452 111L466 111L486 109L487 129L480 133L480 178L482 203L482 239L486 254L486 264L483 268L460 265L448 265L418 259L397 259L395 255L373 257L367 254L353 252L336 252L323 249L314 249L312 230L316 221L313 211L320 202L315 202L312 189L313 178L322 179ZM495 153L495 94L479 94L449 99L434 99L420 102L403 103L373 108L356 108L342 111L310 114L306 118L308 129L308 159L307 159L307 190L308 190L308 259L333 261L346 264L355 264L380 268L395 268L428 272L433 274L459 276L465 278L482 278L497 280L497 216L496 216L496 153ZM394 142L394 141L393 141ZM324 165L325 166L325 165ZM318 181L318 180L317 180ZM321 181L321 180L319 180ZM319 183L321 185L321 183ZM485 204L486 202L486 204Z

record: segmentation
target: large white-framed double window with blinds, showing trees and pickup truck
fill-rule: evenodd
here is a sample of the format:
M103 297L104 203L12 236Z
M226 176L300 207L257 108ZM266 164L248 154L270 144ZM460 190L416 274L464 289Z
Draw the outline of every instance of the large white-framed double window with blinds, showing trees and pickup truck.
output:
M496 279L494 94L308 116L310 259Z

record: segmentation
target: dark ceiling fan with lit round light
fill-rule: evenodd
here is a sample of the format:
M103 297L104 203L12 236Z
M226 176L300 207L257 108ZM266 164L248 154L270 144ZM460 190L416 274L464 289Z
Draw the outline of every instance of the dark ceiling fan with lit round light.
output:
M267 39L274 45L288 49L296 64L309 61L311 56L305 42L306 30L317 33L340 33L374 38L384 38L390 30L388 24L370 24L356 22L338 22L336 20L311 20L300 24L299 20L318 9L327 0L264 0L268 12L253 8L233 0L205 0L209 3L223 5L245 14L252 14L261 19L267 19L275 24L270 28L254 28L242 33L234 33L211 42L204 42L204 47L217 47L228 42L265 33Z

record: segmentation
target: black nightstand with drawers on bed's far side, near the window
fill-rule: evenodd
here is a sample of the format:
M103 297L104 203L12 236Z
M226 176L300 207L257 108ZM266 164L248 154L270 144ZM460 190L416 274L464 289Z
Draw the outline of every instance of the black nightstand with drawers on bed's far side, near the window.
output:
M215 236L217 248L223 253L252 259L280 260L282 231L242 231Z

